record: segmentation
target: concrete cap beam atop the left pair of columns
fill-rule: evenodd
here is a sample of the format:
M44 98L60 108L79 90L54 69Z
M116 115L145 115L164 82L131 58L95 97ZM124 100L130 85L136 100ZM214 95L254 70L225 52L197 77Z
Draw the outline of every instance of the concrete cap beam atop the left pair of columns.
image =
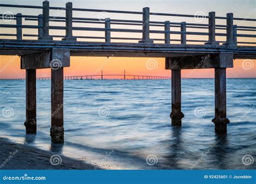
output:
M70 49L53 48L52 51L24 55L21 57L21 69L51 68L53 64L70 66Z

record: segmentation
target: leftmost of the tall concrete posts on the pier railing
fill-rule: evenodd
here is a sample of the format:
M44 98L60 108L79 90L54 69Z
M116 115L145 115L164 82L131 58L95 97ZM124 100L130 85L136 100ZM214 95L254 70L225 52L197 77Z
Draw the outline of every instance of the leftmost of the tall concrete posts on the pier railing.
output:
M39 37L39 40L52 40L52 37L49 36L49 13L50 6L49 1L43 2L43 36Z

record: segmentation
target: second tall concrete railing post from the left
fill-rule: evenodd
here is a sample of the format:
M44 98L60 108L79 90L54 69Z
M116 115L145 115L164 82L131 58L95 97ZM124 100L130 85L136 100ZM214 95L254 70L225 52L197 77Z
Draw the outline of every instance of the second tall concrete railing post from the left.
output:
M66 37L62 40L66 41L76 41L77 39L73 37L73 25L72 25L72 3L66 3Z

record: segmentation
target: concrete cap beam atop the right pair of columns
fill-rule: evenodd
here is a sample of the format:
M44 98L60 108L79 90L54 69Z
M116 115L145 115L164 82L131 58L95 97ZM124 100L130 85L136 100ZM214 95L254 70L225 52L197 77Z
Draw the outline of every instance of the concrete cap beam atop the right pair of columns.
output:
M221 52L220 54L205 54L184 56L166 60L165 68L168 69L200 69L200 68L232 68L233 53Z

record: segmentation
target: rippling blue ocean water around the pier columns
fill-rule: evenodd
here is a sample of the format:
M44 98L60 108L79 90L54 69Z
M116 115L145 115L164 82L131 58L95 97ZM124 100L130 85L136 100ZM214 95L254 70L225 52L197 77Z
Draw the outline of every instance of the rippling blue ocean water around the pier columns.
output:
M170 80L65 80L65 143L56 145L50 81L37 81L37 135L25 134L25 81L0 81L0 110L11 109L11 116L0 113L0 136L96 169L255 169L256 79L227 79L226 136L216 135L211 122L214 79L181 85L185 117L177 128Z

